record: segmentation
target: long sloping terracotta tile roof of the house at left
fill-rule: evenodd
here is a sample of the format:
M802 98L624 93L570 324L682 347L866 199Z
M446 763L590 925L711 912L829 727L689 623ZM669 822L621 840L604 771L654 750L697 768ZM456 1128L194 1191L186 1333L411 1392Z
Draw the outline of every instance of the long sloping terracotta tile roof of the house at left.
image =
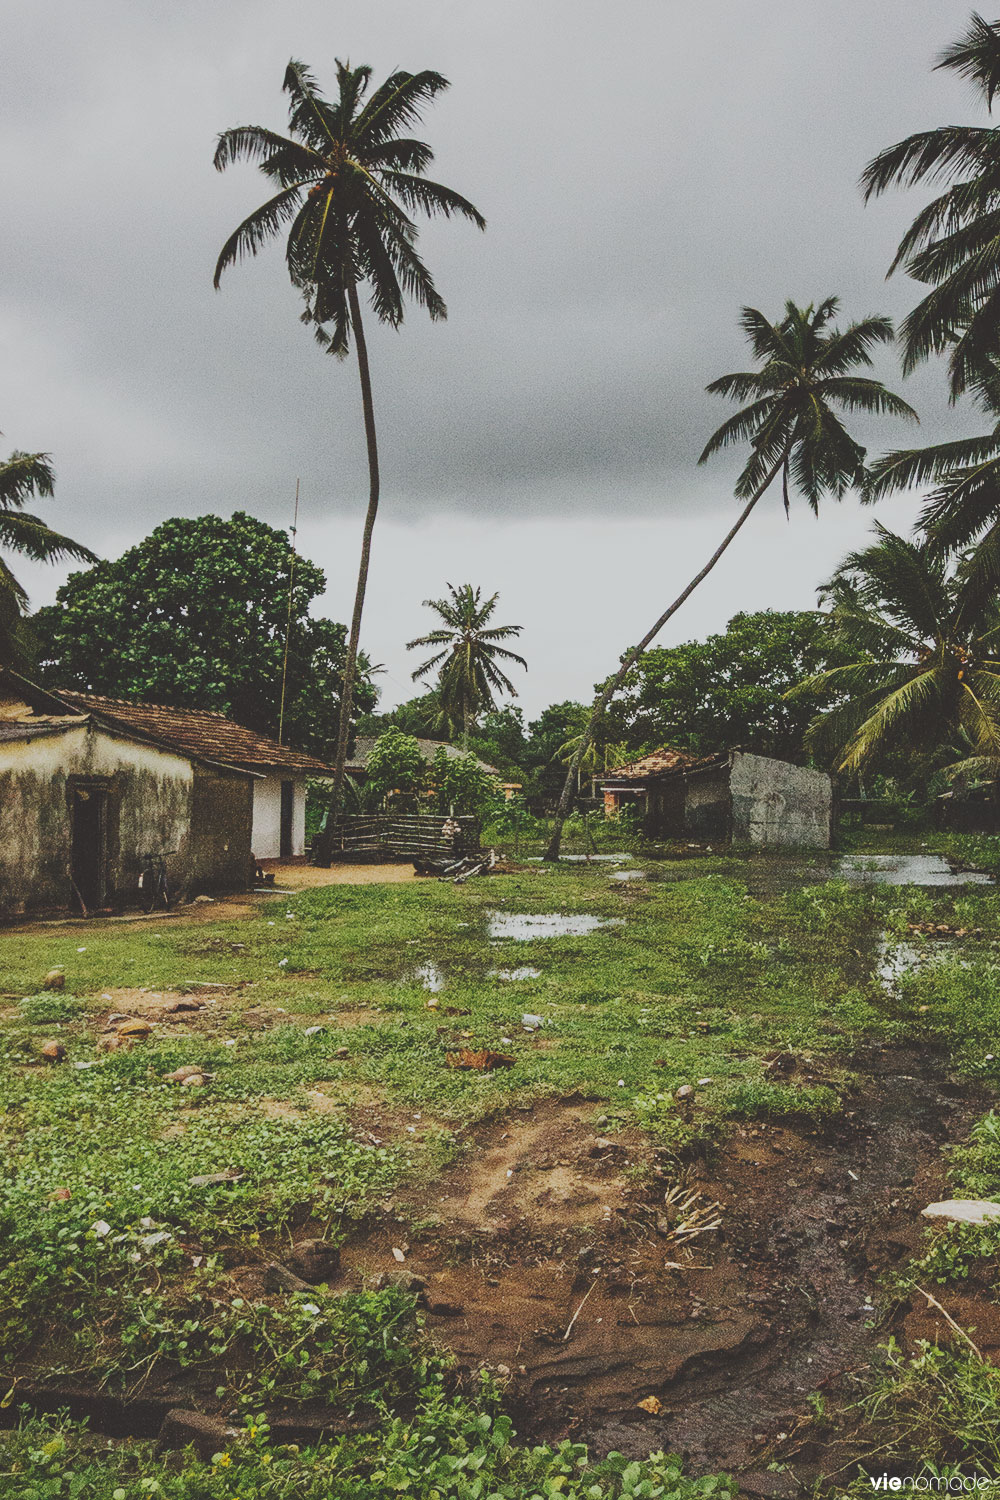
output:
M58 693L72 708L84 710L115 729L132 730L204 760L253 770L312 771L331 776L331 770L316 756L291 746L279 746L270 735L234 724L225 714L210 708L169 708L163 704L129 704L120 698L99 698L93 693Z

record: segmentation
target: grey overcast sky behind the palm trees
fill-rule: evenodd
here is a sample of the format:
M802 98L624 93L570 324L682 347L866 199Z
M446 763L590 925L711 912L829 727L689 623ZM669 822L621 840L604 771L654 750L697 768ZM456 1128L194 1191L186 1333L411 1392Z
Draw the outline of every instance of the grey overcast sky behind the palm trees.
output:
M298 322L279 246L211 288L267 195L219 176L217 132L285 126L291 56L435 68L432 174L489 220L423 230L448 321L370 332L382 512L366 612L385 705L445 582L499 590L525 626L520 702L585 698L694 573L733 513L736 459L696 465L745 368L745 303L829 294L903 316L885 282L924 194L868 208L883 146L973 117L931 72L954 0L3 0L0 428L51 452L46 518L115 556L172 514L291 524L349 614L367 498L357 370ZM924 436L976 429L940 370L903 387ZM907 429L865 441L892 447ZM786 524L766 501L664 640L736 609L810 608L871 522L849 501ZM906 526L913 501L880 507ZM64 570L24 570L34 603Z

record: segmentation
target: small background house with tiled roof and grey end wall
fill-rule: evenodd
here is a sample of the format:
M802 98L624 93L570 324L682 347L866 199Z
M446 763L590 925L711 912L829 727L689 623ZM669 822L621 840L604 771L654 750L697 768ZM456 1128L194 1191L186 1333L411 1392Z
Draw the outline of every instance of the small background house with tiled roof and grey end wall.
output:
M642 807L649 838L829 849L834 786L825 771L727 750L696 759L654 752L604 782L619 801Z

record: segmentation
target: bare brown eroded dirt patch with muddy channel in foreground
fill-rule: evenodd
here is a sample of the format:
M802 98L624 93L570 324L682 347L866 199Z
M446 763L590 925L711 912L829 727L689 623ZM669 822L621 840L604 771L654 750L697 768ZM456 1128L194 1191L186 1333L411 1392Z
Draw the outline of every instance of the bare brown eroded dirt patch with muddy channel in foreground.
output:
M637 1134L604 1137L579 1098L507 1116L408 1204L429 1330L499 1376L522 1436L753 1468L885 1341L877 1275L916 1250L942 1148L982 1108L915 1050L855 1066L870 1082L835 1126L739 1125L691 1168L721 1227L687 1246L664 1203L676 1168ZM390 1220L348 1245L346 1278L393 1268L399 1234Z

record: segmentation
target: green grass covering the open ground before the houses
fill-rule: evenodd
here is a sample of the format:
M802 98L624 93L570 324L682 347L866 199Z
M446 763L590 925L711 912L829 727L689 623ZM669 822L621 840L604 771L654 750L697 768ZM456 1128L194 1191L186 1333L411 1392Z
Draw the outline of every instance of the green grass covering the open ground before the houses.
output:
M1000 1077L984 1060L1000 1022L985 944L970 969L918 975L895 1000L873 980L883 932L930 918L996 930L997 896L802 886L808 870L807 861L736 852L684 860L667 870L684 874L676 882L613 885L600 866L543 866L465 886L330 886L240 921L6 934L0 1372L30 1359L36 1372L72 1371L130 1390L159 1371L192 1370L246 1412L277 1396L321 1396L367 1402L381 1425L378 1440L315 1455L255 1438L225 1473L189 1466L178 1476L136 1446L96 1452L72 1428L45 1437L28 1424L4 1440L0 1470L21 1490L3 1492L709 1492L666 1460L583 1470L579 1449L519 1448L496 1406L454 1388L412 1306L391 1293L250 1305L225 1263L240 1244L279 1245L292 1214L312 1216L315 1233L343 1238L388 1196L405 1202L478 1120L532 1100L582 1095L607 1128L639 1125L684 1154L739 1118L835 1114L855 1086L852 1052L873 1036L942 1042L976 1077ZM492 942L493 910L586 914L610 926L583 938ZM445 978L436 1008L415 974L426 963ZM507 982L493 974L522 966L541 976ZM40 992L51 968L64 970L63 993ZM205 981L240 986L238 1010L271 1011L274 1024L255 1030L238 1010L207 1006L129 1052L97 1052L94 1018L111 1008L103 994ZM525 1011L544 1017L541 1030L523 1030ZM310 1022L322 1029L306 1036ZM36 1060L45 1038L66 1046L64 1064ZM460 1046L510 1053L514 1065L457 1071L447 1058ZM798 1072L774 1078L768 1059L777 1052L811 1059L802 1082ZM169 1083L181 1064L205 1068L210 1083ZM697 1088L693 1104L676 1100L681 1084ZM322 1094L324 1110L310 1090ZM352 1130L361 1107L420 1113L424 1134L372 1144ZM988 1146L985 1136L976 1146L981 1174L994 1170ZM216 1172L238 1180L190 1182ZM48 1443L63 1446L46 1454ZM142 1490L144 1480L160 1488Z

